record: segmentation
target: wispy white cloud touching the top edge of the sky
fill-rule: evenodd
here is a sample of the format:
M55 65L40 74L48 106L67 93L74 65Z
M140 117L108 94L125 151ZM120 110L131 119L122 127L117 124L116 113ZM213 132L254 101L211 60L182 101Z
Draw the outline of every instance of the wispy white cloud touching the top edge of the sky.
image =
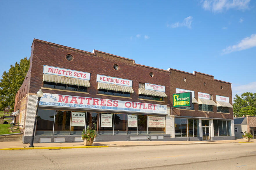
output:
M223 10L237 9L247 10L249 9L250 0L203 0L201 1L202 7L205 10L213 12L222 12Z

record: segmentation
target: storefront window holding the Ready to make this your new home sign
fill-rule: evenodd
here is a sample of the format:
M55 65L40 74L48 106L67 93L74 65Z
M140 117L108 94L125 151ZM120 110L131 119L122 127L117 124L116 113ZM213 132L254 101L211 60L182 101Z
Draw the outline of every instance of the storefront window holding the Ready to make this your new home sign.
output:
M99 134L113 134L114 114L100 113L100 131Z

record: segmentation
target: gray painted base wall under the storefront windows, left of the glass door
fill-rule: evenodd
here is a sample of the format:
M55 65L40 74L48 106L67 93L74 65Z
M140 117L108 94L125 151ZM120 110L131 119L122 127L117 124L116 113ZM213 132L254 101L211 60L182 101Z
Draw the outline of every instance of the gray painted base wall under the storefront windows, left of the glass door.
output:
M75 141L75 138L80 138L80 135L67 135L67 136L35 136L34 143L40 143L40 138L48 138L51 143L77 143L82 141ZM137 136L134 135L98 135L95 138L95 142L107 142L107 141L201 141L201 137L189 137L189 138L171 138L170 135L140 135L139 137L144 137L145 139L135 139L131 140L132 138L136 138ZM22 136L23 143L30 143L32 136ZM65 141L62 142L54 142L54 138L65 138ZM221 139L227 140L227 139ZM49 142L50 142L49 141ZM44 142L46 143L46 142Z

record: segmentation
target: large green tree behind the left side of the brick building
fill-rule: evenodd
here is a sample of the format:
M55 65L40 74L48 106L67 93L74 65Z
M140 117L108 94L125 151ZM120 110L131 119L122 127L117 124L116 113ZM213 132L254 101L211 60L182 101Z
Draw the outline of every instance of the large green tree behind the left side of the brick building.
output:
M16 62L10 66L8 72L4 71L2 79L0 79L0 108L3 109L6 106L14 107L15 95L21 87L26 73L29 69L30 58L21 59L20 62Z

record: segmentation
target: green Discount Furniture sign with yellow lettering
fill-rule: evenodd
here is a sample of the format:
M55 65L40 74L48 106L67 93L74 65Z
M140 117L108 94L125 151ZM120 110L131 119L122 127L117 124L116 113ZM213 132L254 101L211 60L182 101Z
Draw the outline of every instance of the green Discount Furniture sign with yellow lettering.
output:
M173 95L173 107L190 107L192 104L192 93L176 93Z

